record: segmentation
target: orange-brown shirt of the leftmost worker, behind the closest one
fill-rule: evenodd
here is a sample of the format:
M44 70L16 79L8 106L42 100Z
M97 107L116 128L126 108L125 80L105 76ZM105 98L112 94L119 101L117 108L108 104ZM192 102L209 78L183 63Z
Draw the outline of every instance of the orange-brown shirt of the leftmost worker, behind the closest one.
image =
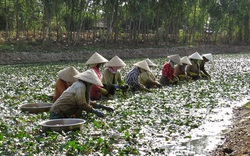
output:
M58 78L55 86L55 93L53 96L53 103L62 95L62 93L69 87L67 82Z

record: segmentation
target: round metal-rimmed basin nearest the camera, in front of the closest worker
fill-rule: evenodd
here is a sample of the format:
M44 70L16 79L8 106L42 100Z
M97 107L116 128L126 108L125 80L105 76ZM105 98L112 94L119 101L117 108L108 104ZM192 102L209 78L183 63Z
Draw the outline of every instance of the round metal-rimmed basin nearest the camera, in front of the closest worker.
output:
M85 120L76 118L52 119L42 122L42 130L55 132L82 131Z

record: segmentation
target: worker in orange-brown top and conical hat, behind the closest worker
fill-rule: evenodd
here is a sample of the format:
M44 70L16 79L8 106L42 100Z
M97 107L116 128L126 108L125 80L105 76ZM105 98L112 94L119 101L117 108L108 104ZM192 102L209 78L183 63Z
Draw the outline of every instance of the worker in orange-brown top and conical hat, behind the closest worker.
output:
M55 93L53 96L53 103L61 96L61 94L77 79L75 75L79 74L74 67L67 67L58 72L58 79L56 80Z

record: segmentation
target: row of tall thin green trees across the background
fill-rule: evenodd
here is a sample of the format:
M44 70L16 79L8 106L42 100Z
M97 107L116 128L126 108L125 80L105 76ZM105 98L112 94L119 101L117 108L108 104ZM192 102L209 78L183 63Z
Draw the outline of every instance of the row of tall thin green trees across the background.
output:
M250 42L249 0L1 0L0 43Z

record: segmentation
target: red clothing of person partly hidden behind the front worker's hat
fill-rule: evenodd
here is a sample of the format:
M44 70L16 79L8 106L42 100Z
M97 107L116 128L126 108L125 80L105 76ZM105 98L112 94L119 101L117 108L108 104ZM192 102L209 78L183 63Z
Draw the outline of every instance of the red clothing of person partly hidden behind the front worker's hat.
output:
M97 74L98 78L102 81L102 74L97 67L93 67L95 73ZM98 85L92 85L90 87L90 99L91 100L100 100L102 97L101 95L101 87Z

